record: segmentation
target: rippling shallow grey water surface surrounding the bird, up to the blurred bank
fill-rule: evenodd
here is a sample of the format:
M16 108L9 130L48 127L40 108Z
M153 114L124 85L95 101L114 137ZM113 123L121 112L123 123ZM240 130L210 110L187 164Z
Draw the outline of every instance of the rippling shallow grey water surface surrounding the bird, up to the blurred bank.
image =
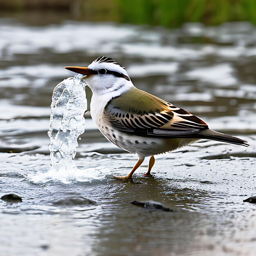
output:
M256 28L181 29L63 21L0 20L0 255L254 255ZM198 141L159 155L153 177L132 182L136 156L108 143L85 114L77 173L51 173L52 91L63 67L109 56L140 89L185 108L250 147ZM130 202L153 200L154 211Z

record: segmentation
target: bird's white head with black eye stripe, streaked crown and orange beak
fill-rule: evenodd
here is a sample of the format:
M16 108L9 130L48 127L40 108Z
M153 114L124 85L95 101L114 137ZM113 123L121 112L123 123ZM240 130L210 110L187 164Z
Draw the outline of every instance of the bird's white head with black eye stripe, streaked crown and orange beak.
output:
M85 79L92 92L111 92L130 82L124 67L104 56L97 58L88 67L65 67L65 69L85 75L82 79Z

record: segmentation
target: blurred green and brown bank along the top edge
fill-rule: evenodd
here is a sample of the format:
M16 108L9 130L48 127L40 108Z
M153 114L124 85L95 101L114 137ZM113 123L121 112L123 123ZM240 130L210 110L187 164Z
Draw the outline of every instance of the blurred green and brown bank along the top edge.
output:
M0 0L0 12L64 11L74 20L179 27L185 22L256 25L256 0Z

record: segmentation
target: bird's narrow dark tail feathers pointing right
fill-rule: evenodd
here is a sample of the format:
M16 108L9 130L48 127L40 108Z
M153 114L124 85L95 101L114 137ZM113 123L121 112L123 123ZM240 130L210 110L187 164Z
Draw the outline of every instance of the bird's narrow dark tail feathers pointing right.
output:
M217 140L217 141L227 142L230 144L236 144L236 145L249 147L249 144L247 143L247 141L245 141L243 139L239 139L239 138L236 138L236 137L224 134L224 133L216 132L211 129L202 130L198 134L202 135L202 137L201 137L202 139L213 139L213 140Z

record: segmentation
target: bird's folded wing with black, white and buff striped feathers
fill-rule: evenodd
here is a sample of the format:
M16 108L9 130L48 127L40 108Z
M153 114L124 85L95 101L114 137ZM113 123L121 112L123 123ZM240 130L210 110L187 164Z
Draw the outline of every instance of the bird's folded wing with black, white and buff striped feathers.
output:
M104 116L122 132L147 137L191 137L208 126L186 110L166 103L162 111L124 112L108 104Z

